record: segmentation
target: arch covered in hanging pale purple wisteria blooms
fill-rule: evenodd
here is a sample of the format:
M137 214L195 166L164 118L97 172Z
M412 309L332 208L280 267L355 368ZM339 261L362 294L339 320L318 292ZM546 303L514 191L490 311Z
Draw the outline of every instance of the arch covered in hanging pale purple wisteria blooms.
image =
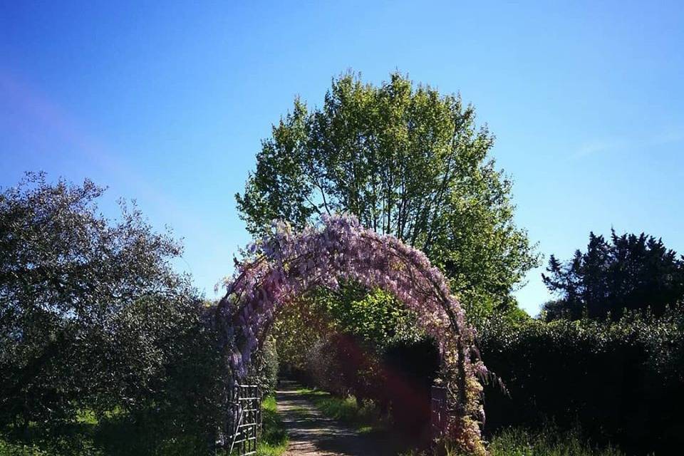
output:
M216 309L232 378L247 375L278 306L314 286L336 289L343 279L369 289L379 287L413 309L420 326L437 341L440 378L452 398L447 435L465 450L485 453L478 378L487 370L475 356L475 331L466 323L445 277L423 252L362 227L354 217L331 216L300 232L289 224L274 224L271 234L251 244L235 263L236 271L225 281L227 291Z

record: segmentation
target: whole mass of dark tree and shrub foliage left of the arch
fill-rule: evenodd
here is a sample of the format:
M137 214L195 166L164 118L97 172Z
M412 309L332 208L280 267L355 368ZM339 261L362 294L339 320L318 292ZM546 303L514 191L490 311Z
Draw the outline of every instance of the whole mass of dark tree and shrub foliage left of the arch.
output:
M0 193L0 431L54 454L206 450L217 335L172 271L180 245L135 206L105 219L102 193L43 175Z

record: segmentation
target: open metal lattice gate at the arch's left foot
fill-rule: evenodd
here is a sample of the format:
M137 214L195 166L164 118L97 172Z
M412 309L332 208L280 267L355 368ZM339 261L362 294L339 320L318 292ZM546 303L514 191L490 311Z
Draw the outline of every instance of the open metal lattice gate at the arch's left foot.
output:
M225 445L229 455L255 455L261 433L261 392L257 385L234 386L229 398L229 429Z

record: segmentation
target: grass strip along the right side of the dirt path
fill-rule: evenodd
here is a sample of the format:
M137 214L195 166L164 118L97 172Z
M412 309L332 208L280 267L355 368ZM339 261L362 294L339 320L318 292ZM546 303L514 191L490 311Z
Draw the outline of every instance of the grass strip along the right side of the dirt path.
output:
M306 395L306 398L311 400L314 406L321 410L321 413L326 417L350 425L357 432L363 434L386 430L386 422L373 403L366 402L359 407L356 398L352 396L339 398L326 391L311 388L300 388L297 393Z

